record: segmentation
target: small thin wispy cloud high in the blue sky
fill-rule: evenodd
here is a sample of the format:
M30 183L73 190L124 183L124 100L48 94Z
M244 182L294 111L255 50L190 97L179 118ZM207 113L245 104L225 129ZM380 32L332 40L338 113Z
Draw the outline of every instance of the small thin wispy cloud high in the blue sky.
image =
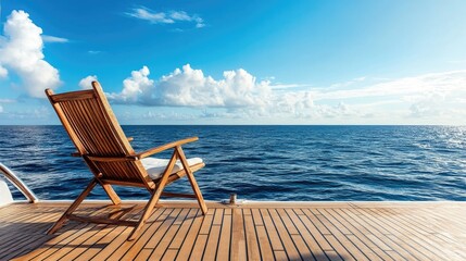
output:
M135 8L126 13L128 16L149 21L152 24L175 24L177 22L191 22L197 28L204 27L204 21L199 15L189 15L185 11L154 12L148 8Z

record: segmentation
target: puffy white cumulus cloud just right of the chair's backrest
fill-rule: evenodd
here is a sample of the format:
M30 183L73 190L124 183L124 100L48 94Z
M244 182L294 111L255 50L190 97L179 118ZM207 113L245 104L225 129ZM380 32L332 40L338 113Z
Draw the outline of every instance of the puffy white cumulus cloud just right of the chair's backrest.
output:
M144 105L236 108L265 105L270 94L268 82L257 82L242 69L224 72L221 80L189 64L156 83L149 74L147 66L133 71L123 82L123 90L110 94L109 98L118 103Z

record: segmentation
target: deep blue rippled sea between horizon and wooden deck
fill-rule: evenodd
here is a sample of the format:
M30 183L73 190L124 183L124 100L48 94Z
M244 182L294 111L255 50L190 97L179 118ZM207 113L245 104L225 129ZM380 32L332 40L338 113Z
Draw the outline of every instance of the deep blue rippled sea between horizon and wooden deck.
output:
M207 200L231 192L247 200L466 200L466 126L123 128L136 151L198 136L184 148L206 163L196 176ZM0 162L39 199L74 199L88 184L91 174L73 151L62 126L0 126ZM184 178L168 190L190 186ZM105 199L95 191L90 198ZM116 191L149 197L144 189Z

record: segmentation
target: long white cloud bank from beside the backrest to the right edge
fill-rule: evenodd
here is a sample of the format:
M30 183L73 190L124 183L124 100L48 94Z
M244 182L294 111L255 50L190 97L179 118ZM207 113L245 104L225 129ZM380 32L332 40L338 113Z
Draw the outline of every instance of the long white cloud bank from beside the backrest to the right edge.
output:
M143 66L134 71L124 80L122 91L110 94L109 99L147 107L198 108L199 119L392 124L410 123L413 119L432 119L431 123L436 123L439 119L466 116L466 71L366 83L373 80L361 77L348 82L351 84L304 88L257 80L242 69L226 71L215 79L189 64L153 80Z

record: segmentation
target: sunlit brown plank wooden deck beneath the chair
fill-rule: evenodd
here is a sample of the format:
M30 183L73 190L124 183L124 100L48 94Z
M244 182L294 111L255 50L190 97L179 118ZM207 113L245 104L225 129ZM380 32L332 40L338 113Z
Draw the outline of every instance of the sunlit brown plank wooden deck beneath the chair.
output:
M67 223L45 232L68 203L0 208L0 260L466 260L466 202L166 202L141 236ZM141 211L141 204L125 214ZM121 208L86 203L81 213Z

